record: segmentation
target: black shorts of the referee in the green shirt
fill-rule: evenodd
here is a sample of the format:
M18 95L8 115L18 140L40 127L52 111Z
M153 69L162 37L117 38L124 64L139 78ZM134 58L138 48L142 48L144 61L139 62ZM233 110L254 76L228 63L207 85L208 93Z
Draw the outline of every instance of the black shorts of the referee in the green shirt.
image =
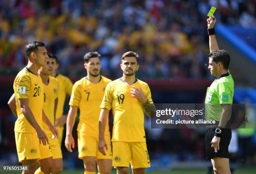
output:
M215 157L229 158L228 146L230 144L232 132L231 129L221 129L220 138L220 150L216 153L214 148L211 147L211 141L215 134L216 126L206 126L205 131L205 146L206 146L206 158L213 159Z

